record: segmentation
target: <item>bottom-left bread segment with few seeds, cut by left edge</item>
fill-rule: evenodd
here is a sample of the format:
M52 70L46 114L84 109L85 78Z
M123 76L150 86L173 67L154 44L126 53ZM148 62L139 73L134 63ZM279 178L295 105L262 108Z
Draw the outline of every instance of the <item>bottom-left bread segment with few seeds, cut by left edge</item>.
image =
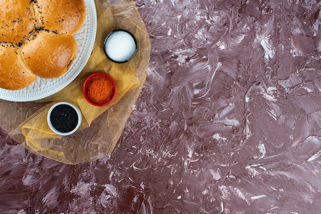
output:
M17 47L0 45L0 85L7 90L18 90L31 84L36 75L30 73Z

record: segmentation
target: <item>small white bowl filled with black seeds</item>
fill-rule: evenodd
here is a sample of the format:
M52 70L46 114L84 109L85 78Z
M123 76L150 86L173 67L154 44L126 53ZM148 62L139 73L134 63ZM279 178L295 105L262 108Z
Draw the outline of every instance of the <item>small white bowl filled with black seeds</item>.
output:
M71 102L57 102L49 109L47 122L50 129L57 135L71 135L81 125L82 113Z

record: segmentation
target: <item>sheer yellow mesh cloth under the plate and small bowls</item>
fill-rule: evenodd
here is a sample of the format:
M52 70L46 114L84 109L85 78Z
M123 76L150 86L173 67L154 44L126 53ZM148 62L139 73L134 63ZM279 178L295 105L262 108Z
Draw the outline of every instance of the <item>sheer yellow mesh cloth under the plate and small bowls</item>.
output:
M92 55L79 76L62 91L36 102L0 100L0 125L29 151L67 163L94 161L110 154L142 90L147 76L150 40L144 22L132 0L95 0L97 36ZM137 40L137 53L126 63L114 63L103 51L105 36L112 30L130 31ZM108 106L89 104L82 93L84 80L104 72L117 85L115 100ZM47 124L47 113L54 103L69 101L83 114L80 129L70 136L55 135Z

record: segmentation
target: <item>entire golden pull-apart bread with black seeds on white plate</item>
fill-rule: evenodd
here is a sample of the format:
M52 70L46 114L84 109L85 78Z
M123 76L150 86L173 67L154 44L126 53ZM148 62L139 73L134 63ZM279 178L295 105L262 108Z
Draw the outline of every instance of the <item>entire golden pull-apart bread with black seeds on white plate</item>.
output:
M66 73L77 51L72 34L85 17L84 0L0 0L0 88Z

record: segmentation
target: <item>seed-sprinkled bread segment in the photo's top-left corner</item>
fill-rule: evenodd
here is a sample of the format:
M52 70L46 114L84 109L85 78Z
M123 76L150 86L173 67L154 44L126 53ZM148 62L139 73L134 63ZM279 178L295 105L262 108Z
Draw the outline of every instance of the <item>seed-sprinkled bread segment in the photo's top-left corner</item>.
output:
M37 26L30 0L0 0L0 42L23 42Z

